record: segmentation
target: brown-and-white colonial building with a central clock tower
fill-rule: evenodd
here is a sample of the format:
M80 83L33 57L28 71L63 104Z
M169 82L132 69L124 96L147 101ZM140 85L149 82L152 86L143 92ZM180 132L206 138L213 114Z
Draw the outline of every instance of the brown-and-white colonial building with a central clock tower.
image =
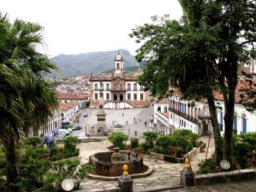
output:
M99 107L99 88L102 84L103 108L124 109L143 108L148 106L148 92L137 83L138 76L125 76L123 57L115 57L115 68L112 74L101 74L90 77L90 108Z

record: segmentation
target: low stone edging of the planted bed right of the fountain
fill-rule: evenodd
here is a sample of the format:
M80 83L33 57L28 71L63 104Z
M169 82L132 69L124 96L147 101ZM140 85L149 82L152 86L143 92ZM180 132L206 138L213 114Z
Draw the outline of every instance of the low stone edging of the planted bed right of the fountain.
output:
M188 152L188 157L191 159L191 157L195 156L196 154L202 152L204 148L206 147L206 143L202 142L200 147L198 148L193 148L191 151ZM172 163L185 163L186 155L182 158L174 157L174 156L166 156L163 154L156 154L156 153L150 153L150 158L152 159L159 159L159 160L164 160L164 161L170 161Z

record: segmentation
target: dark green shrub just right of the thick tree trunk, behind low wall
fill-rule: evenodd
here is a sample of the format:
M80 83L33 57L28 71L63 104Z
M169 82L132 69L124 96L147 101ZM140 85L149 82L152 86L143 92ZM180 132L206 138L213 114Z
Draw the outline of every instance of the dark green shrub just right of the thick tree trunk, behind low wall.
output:
M234 156L242 169L246 168L248 164L249 148L250 145L246 142L237 142L234 146Z

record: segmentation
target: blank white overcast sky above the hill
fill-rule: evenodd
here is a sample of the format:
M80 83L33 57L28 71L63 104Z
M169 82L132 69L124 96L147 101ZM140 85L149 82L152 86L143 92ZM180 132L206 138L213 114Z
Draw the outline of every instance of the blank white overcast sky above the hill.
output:
M138 45L128 36L132 28L153 15L182 15L178 0L8 0L0 9L11 21L41 24L47 44L41 52L50 57L116 49L135 54Z

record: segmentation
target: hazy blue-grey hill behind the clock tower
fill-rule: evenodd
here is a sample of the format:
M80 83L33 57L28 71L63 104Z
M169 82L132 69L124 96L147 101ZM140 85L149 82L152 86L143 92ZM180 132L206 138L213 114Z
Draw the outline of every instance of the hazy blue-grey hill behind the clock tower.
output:
M76 75L89 75L99 74L106 70L114 68L115 56L120 51L120 55L124 58L124 68L136 65L136 60L132 54L125 49L118 49L115 51L97 51L87 52L82 54L60 54L51 60L60 68L60 74L49 74L48 76L76 76Z

